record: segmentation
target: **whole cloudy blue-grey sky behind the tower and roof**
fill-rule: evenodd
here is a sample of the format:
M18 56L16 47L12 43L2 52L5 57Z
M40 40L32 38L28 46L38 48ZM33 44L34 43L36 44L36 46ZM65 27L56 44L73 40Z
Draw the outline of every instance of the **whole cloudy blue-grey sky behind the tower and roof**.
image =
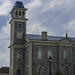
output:
M16 0L0 0L0 67L9 66L10 11ZM75 37L75 0L19 0L28 11L27 33Z

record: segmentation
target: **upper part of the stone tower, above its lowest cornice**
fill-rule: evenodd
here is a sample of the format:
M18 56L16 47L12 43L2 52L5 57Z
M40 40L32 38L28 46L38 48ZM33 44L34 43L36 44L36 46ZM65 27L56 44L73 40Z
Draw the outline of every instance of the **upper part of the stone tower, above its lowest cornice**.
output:
M17 1L11 10L11 44L23 44L23 36L26 34L26 21L25 13L26 8L22 2Z

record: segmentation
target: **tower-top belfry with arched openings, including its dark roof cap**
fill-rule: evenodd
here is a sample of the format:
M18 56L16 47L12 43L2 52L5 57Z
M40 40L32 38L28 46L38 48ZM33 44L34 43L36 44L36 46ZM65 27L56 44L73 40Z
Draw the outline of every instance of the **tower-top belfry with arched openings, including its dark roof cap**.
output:
M12 19L13 18L21 18L24 19L25 18L25 13L26 13L26 8L24 7L23 3L20 1L16 1L13 9L11 10L10 14Z

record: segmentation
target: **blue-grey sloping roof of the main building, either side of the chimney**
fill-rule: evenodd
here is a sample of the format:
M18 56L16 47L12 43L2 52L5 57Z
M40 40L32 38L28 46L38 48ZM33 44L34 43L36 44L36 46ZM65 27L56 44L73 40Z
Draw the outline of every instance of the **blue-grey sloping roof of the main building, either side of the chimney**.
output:
M64 38L69 38L72 41L75 41L75 38L72 37L60 37L60 36L47 36L47 41L60 41ZM26 39L29 40L42 40L42 35L35 35L35 34L26 34Z

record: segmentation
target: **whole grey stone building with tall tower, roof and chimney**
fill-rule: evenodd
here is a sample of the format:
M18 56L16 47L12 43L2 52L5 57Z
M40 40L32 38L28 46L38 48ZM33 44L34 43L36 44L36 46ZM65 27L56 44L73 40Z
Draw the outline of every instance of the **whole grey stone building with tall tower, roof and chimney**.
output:
M75 75L75 38L26 34L26 11L17 1L10 12L10 75Z

